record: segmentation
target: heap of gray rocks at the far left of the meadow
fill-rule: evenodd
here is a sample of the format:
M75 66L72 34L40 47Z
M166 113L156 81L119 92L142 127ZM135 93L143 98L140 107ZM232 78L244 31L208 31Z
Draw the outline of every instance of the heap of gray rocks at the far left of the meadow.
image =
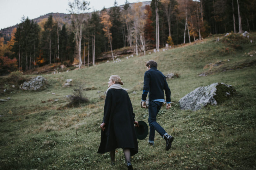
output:
M46 88L46 85L46 78L44 78L43 76L37 76L35 78L32 78L30 81L21 84L20 89L31 91L43 90Z

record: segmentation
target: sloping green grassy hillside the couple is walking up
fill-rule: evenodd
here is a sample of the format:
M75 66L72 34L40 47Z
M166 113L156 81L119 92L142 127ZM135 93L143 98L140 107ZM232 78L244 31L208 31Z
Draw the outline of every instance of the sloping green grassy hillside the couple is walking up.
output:
M109 76L119 75L123 88L128 89L136 120L147 122L148 110L140 108L140 100L144 63L150 59L158 63L163 74L179 75L168 79L172 108L162 107L158 115L158 122L174 136L174 141L172 148L165 151L164 140L157 133L154 147L148 146L148 138L139 140L139 153L131 158L133 167L255 169L256 33L251 33L249 39L238 34L218 36L219 41L217 36L209 37L158 53L122 58L118 63L46 74L46 90L14 90L0 96L11 98L0 104L0 169L126 169L121 149L117 150L114 167L110 166L109 153L96 153L104 92ZM202 73L207 76L199 76ZM73 86L62 88L70 78ZM214 82L232 85L238 93L221 105L198 111L179 109L180 98ZM69 101L65 96L72 94L78 84L93 88L84 91L89 103L66 108Z

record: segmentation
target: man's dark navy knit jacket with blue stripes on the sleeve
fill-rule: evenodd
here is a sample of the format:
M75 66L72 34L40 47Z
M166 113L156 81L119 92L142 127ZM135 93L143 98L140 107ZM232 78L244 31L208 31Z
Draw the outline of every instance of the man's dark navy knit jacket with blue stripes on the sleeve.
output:
M155 99L164 99L164 92L166 96L166 102L171 101L171 90L166 82L166 77L163 73L156 69L156 67L150 68L144 74L144 85L142 100L146 100L149 92L149 101Z

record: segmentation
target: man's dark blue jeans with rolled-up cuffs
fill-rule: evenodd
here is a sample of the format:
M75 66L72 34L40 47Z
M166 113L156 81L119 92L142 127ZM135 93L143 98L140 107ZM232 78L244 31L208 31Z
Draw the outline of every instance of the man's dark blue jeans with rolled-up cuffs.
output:
M156 122L156 116L162 107L163 102L149 101L149 141L154 141L155 130L163 136L166 131Z

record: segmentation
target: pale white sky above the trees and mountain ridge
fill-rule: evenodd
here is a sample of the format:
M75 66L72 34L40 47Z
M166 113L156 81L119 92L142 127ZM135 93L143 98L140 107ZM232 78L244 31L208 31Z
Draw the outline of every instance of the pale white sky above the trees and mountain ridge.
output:
M73 2L74 0L70 0ZM90 2L90 12L101 10L103 7L114 6L115 0L85 0ZM119 5L125 4L125 0L116 0ZM129 3L144 2L150 0L128 0ZM69 0L0 0L0 30L19 24L24 15L25 18L35 19L48 13L68 14Z

